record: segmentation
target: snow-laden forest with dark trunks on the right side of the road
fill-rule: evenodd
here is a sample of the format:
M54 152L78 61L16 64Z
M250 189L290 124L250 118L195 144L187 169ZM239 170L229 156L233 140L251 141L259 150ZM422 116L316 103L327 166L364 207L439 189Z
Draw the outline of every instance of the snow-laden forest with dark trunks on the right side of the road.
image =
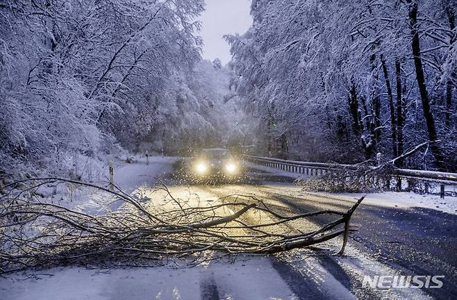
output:
M267 156L456 171L456 2L254 0L227 36ZM413 155L403 157L411 149Z

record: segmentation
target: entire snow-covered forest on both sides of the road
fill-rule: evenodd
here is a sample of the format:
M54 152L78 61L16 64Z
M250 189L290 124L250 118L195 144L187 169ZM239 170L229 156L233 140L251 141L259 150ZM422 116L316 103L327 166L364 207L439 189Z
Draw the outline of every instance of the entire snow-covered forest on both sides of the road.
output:
M456 171L455 1L253 0L225 66L201 58L203 10L1 0L0 172L67 174L144 143Z

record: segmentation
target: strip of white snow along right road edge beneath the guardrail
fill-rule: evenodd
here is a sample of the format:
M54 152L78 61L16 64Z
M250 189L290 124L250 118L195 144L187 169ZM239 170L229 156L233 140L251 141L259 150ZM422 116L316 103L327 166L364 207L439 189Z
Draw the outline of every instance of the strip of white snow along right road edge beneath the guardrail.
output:
M254 163L244 162L247 167L258 169L263 172L269 172L278 176L285 176L290 178L306 179L311 176L304 174L297 174L293 172L285 172L283 170L275 169L273 167L265 167L256 165ZM447 186L446 190L454 191L457 194L457 186ZM366 195L363 203L372 206L384 206L390 208L429 208L439 210L444 213L451 213L457 215L457 197L446 196L441 199L438 194L416 194L415 192L374 192L369 194L363 193L338 193L332 194L328 192L312 192L312 194L319 194L324 197L338 197L348 200L360 198Z

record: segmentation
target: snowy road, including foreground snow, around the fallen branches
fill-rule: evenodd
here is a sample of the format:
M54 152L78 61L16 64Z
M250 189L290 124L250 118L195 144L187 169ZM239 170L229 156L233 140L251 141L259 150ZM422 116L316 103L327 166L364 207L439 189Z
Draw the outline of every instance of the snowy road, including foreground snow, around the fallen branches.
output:
M167 169L168 164L171 170L173 162L167 160L156 166ZM142 174L147 171L142 167ZM283 213L346 210L360 196L313 194L281 174L252 168L247 172L249 179L242 183L192 185L176 176L175 168L165 182L174 197L213 202L229 194L252 194ZM152 193L149 186L142 182L135 192ZM192 268L51 269L34 274L39 280L23 280L22 274L1 279L0 299L456 299L456 213L413 208L411 201L403 205L404 194L388 196L392 197L389 201L379 194L368 195L356 210L353 223L361 228L351 234L344 256L335 255L342 242L339 238L315 249L277 256L228 257ZM251 213L244 218L255 223L258 215ZM308 231L327 222L325 216L315 217L293 224L290 230ZM393 274L444 275L443 287L363 288L365 275Z

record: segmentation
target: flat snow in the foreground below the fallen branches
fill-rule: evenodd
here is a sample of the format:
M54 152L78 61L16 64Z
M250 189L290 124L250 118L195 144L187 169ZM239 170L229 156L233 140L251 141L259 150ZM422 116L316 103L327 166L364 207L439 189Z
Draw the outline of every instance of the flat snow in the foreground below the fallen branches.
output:
M298 299L267 258L214 262L193 268L50 269L0 279L1 300ZM217 290L216 290L217 289Z

